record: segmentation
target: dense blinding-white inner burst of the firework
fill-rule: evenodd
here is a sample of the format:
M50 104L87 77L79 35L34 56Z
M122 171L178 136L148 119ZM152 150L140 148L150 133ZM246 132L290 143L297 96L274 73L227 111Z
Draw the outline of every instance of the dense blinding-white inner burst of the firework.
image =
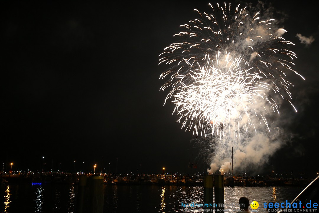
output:
M251 68L241 70L241 58L232 60L229 54L224 60L220 60L219 55L216 58L219 62L217 67L211 67L208 59L203 67L199 65L198 70L189 73L193 82L189 85L181 82L173 95L175 110L181 115L178 121L184 119L182 126L189 122L189 128L194 126L193 133L199 129L203 132L206 124L214 130L214 126L221 128L230 123L231 119L241 119L241 111L246 112L250 120L248 106L255 102L255 96L263 97L259 93L268 86L258 84L258 80L263 77L249 73Z

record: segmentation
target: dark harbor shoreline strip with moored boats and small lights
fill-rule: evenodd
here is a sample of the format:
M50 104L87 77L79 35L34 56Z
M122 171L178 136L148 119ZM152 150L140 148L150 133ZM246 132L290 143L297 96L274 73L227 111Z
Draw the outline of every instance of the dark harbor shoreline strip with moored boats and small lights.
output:
M19 172L16 174L0 175L0 183L65 183L78 184L81 175L93 176L93 173L68 172ZM106 185L175 185L175 186L203 186L203 174L105 174L102 176ZM224 186L307 186L312 179L263 176L233 176L224 177Z

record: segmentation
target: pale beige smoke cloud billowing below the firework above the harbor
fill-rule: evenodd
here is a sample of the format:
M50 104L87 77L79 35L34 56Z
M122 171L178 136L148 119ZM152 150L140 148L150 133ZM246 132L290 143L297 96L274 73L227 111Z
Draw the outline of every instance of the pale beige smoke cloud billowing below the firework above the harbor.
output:
M269 129L263 119L256 118L255 114L250 112L249 117L252 119L252 124L247 125L247 131L244 131L244 125L236 130L240 133L240 138L236 137L234 133L225 135L225 139L223 136L221 138L209 136L211 150L213 150L210 156L209 173L214 173L219 168L219 172L230 174L232 148L234 150L232 162L234 174L244 170L258 172L279 148L291 140L292 135L279 127L285 126L287 122L286 119L280 118L280 116L285 116L284 113L280 115L275 113L271 108L267 108L263 101L258 100L259 98L261 97L256 97L254 109L263 112ZM282 100L276 100L276 103L280 106Z

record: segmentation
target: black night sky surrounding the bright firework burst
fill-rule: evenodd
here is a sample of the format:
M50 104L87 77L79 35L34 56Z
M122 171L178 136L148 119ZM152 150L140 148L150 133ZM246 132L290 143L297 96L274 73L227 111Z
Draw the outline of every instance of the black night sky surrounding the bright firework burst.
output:
M311 1L272 1L296 44L291 142L265 165L313 174L318 170L318 16ZM8 169L191 172L199 148L163 106L166 92L158 55L179 26L210 11L211 1L123 3L10 2L1 7L1 148ZM253 3L255 4L255 3ZM269 4L269 2L267 3ZM279 16L281 13L281 16ZM301 44L296 34L313 36ZM278 117L280 119L280 117ZM286 119L286 118L285 118ZM42 159L44 156L44 160ZM103 158L102 158L103 156ZM102 161L103 159L103 161ZM83 163L84 162L84 163ZM280 162L280 164L278 163ZM60 165L61 163L61 165ZM193 171L206 171L197 162ZM1 164L2 167L2 164ZM1 168L2 169L2 168ZM311 175L310 175L311 176Z

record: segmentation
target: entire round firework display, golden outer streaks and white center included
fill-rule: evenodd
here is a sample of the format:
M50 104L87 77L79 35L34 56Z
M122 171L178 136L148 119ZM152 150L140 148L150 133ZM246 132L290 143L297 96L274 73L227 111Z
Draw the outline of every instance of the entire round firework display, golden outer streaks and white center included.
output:
M275 19L262 19L261 12L209 5L213 13L195 9L198 19L181 25L183 31L174 35L179 40L159 55L159 64L169 66L160 75L170 77L160 88L170 88L164 104L172 98L178 122L194 134L232 131L240 138L247 126L255 128L253 114L269 130L263 112L254 108L256 97L277 113L276 96L293 106L286 72L300 75L292 68L297 57L289 47L294 44L282 37L287 31L276 28Z

